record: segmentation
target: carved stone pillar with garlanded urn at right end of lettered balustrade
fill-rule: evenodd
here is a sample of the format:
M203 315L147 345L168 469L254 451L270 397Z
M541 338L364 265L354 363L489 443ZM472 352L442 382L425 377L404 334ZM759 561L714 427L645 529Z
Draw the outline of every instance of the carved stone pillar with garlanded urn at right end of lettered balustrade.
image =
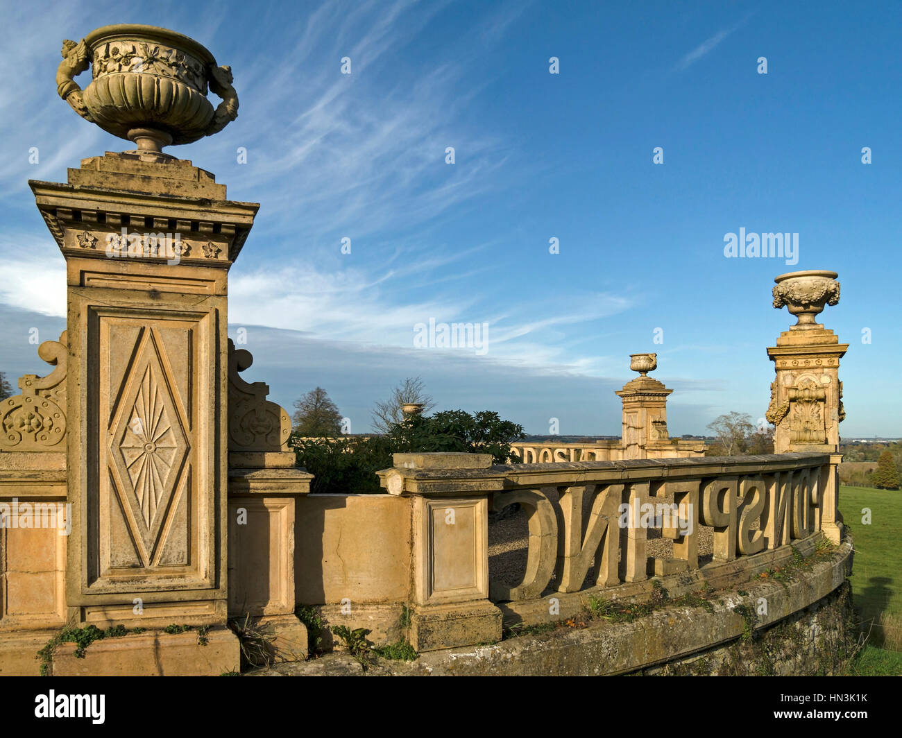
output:
M840 300L836 272L790 272L776 278L774 307L787 306L798 317L796 325L780 334L777 346L769 346L768 356L777 373L770 384L767 419L776 426L774 452L820 451L830 453L831 474L824 483L824 533L842 539L842 515L838 504L837 468L839 424L842 410L840 359L849 344L841 344L832 330L815 322L825 305ZM835 463L833 463L835 459Z

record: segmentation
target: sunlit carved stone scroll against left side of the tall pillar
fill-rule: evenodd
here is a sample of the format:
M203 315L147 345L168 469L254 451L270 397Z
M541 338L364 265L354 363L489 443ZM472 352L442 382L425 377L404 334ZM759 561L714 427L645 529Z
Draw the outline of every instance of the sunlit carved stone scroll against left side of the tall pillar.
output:
M25 374L22 394L0 401L0 451L66 450L67 335L44 341L38 355L56 368L44 377Z

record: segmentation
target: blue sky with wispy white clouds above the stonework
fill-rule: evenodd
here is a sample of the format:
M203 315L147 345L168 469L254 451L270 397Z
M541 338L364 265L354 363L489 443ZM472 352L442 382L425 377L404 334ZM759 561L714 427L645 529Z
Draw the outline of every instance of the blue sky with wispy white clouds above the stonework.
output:
M63 260L27 180L131 148L56 96L61 41L149 23L233 69L238 119L169 151L262 203L229 322L255 358L245 378L275 401L323 386L364 432L419 375L437 409L618 435L629 355L657 351L671 434L703 433L767 408L766 347L795 322L771 307L773 278L831 269L842 300L820 319L850 344L842 435L902 435L900 8L5 2L0 371L44 374L29 330L64 327ZM725 258L741 227L797 233L798 262ZM416 348L429 318L488 324L484 353Z

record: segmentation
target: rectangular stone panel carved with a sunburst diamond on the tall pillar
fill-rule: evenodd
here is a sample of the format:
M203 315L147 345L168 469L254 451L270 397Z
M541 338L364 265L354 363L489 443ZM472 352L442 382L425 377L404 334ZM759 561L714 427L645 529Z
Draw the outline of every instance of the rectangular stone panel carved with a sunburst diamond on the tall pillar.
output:
M100 421L97 471L89 465L87 481L88 490L97 484L88 514L96 505L99 523L88 547L91 592L216 586L212 469L199 440L215 411L204 360L211 321L148 312L95 313L98 343L108 348L95 355L97 388L88 392Z

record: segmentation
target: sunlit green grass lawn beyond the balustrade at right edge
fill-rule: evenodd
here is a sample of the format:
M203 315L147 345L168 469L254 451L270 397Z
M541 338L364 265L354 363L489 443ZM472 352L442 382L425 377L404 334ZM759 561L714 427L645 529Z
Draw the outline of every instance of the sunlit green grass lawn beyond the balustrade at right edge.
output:
M870 510L870 524L862 521ZM902 492L872 487L840 487L840 511L855 541L852 603L864 628L881 612L902 613ZM875 648L882 643L878 628L853 669L862 675L902 675L902 653Z

